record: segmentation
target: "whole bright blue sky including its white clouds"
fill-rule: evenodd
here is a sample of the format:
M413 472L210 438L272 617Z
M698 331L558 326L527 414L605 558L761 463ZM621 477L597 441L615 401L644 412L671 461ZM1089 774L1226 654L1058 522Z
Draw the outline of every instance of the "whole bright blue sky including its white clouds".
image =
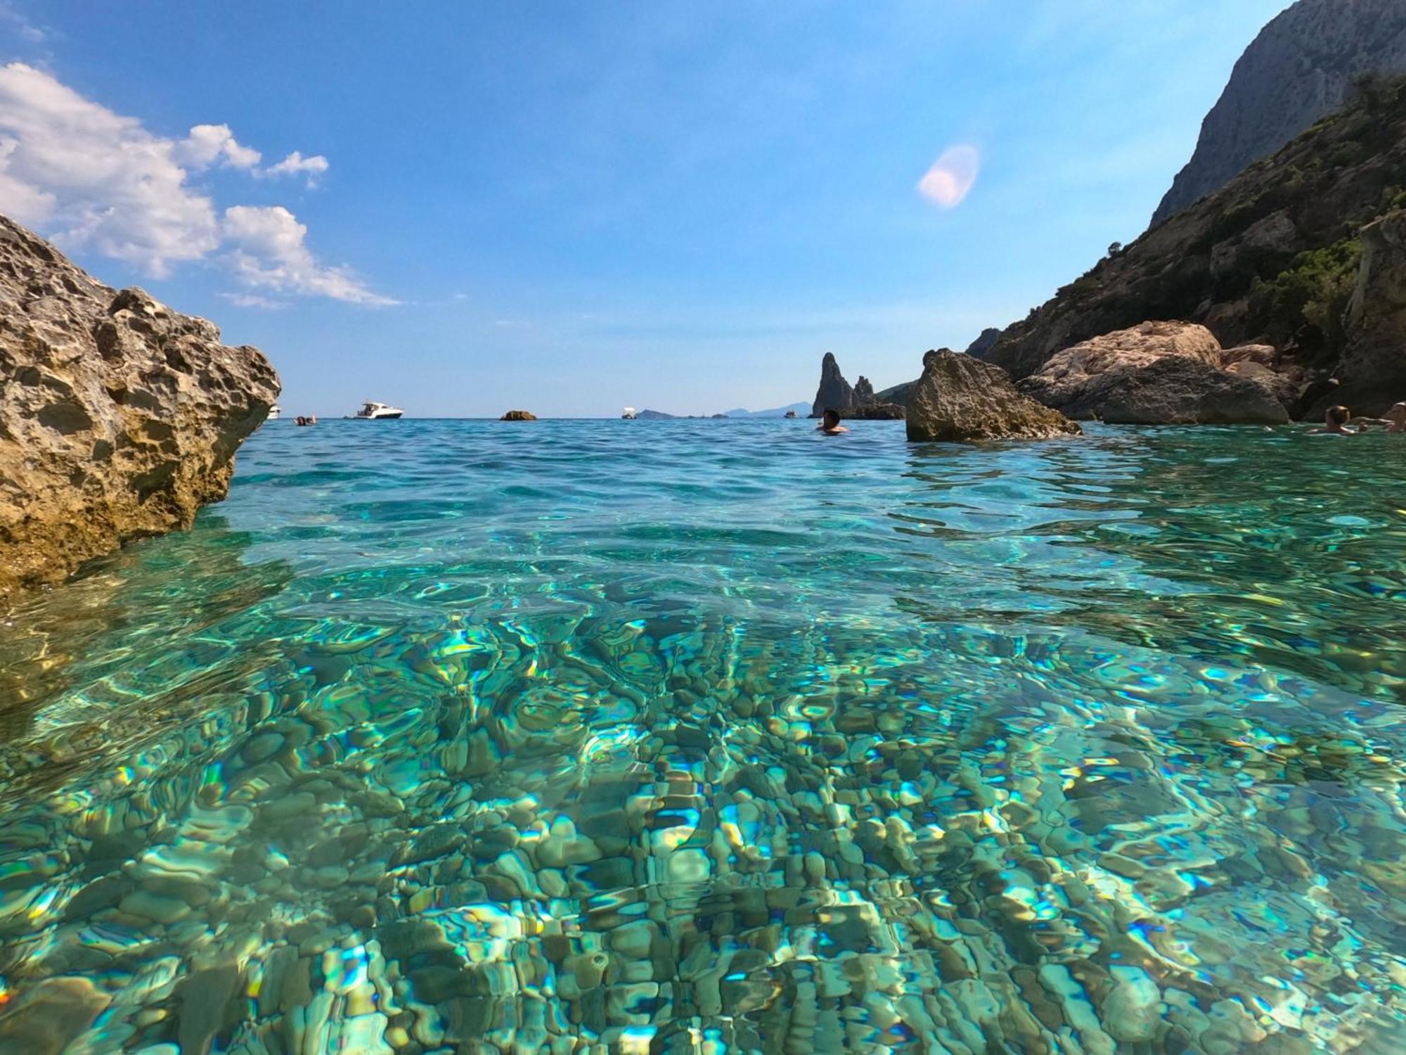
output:
M0 0L0 211L290 414L775 407L1136 238L1286 6Z

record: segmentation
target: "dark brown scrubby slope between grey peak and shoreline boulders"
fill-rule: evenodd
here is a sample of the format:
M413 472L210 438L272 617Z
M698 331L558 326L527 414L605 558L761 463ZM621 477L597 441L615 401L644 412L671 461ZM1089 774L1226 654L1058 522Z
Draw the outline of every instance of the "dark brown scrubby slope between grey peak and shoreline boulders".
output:
M1278 349L1261 366L1282 376L1295 418L1317 416L1347 392L1357 394L1354 411L1379 414L1406 387L1382 354L1360 350L1367 331L1348 324L1347 308L1361 288L1357 316L1379 314L1371 301L1391 287L1398 264L1386 262L1396 257L1378 255L1378 277L1360 281L1357 232L1402 205L1406 90L1393 83L1101 260L1005 329L984 359L1019 380L1090 338L1187 319L1225 346Z

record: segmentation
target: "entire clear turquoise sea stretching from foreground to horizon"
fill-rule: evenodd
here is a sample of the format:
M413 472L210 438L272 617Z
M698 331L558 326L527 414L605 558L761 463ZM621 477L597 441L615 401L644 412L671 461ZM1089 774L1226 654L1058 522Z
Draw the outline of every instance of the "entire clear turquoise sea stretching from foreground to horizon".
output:
M1400 1051L1403 466L273 423L4 620L0 1052Z

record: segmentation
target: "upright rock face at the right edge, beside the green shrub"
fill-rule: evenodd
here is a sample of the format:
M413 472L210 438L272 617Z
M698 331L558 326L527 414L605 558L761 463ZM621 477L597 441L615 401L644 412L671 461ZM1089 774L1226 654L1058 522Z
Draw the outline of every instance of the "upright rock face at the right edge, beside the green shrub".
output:
M1362 229L1362 262L1347 308L1347 350L1334 399L1381 414L1406 399L1406 210Z

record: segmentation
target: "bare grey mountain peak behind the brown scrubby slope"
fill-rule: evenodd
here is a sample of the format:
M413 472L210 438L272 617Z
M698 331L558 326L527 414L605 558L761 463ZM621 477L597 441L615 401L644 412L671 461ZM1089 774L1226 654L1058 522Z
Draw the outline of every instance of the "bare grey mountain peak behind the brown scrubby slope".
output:
M1340 110L1362 76L1403 70L1402 0L1299 0L1265 25L1236 62L1153 225Z

